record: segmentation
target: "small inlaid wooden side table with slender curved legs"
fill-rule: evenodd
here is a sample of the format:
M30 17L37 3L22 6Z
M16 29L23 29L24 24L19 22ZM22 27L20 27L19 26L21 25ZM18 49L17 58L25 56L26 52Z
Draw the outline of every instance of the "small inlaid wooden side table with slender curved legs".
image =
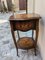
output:
M39 20L40 16L38 14L16 14L15 16L10 16L10 26L14 44L16 46L17 55L18 55L18 48L20 49L30 49L34 48L35 55L36 55L36 46L37 46L37 39L38 39L38 32L39 32ZM16 37L14 31L17 30L18 33L18 41L16 42ZM32 30L32 37L22 37L20 38L18 31L26 32L28 30ZM33 34L34 30L36 31L36 38L34 40Z

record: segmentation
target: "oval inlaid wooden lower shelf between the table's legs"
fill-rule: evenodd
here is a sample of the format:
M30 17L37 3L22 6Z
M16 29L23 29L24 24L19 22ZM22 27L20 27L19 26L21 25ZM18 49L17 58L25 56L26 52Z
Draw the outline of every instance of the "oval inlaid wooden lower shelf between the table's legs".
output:
M30 37L23 37L17 41L17 47L19 49L30 49L35 46L35 41Z

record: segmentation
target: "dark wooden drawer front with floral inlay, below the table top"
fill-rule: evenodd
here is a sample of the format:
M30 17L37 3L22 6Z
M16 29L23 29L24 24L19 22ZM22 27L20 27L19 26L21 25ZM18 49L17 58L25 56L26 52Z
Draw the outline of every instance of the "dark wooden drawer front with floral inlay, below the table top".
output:
M36 22L35 21L16 22L14 29L20 30L20 31L28 31L31 29L35 30L36 29Z

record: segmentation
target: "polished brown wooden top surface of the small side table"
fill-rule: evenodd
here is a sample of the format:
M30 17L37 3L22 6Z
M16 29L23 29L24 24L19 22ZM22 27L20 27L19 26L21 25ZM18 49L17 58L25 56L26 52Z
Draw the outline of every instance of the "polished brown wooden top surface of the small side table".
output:
M38 14L35 14L35 13L32 13L32 14L15 14L15 15L12 15L10 16L9 20L12 21L12 20L30 20L30 19L40 19L40 15Z

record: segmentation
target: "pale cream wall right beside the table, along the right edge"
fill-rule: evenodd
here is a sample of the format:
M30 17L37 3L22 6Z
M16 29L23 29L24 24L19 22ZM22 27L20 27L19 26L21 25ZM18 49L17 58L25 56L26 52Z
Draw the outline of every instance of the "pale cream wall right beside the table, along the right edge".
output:
M40 47L42 60L45 60L45 0L35 0L35 12L40 14L39 38L38 44Z

